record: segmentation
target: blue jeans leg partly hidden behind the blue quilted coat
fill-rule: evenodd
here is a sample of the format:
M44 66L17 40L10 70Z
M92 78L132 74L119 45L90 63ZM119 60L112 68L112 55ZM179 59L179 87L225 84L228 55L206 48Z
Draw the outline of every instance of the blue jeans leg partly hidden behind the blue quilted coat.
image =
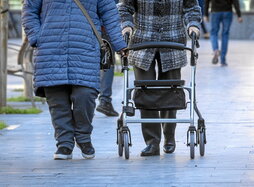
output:
M101 71L100 81L101 81L101 92L99 100L104 100L106 102L111 102L112 98L112 84L114 78L114 67Z

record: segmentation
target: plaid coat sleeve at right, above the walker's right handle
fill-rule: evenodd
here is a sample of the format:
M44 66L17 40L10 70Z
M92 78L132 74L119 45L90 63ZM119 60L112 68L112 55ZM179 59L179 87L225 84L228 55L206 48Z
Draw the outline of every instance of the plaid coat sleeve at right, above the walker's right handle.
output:
M197 0L184 0L183 14L187 29L191 26L200 27L202 15Z

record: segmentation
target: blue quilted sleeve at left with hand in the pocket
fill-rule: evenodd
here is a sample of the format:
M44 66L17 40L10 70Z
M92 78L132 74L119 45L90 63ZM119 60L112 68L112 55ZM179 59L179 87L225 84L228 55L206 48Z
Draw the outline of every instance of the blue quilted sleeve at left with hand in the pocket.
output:
M42 0L25 0L22 8L22 25L32 47L36 47L40 31L40 12Z

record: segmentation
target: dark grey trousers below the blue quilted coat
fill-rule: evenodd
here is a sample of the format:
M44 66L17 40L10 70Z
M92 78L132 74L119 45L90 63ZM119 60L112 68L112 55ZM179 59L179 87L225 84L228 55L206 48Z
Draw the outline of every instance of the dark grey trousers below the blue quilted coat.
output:
M72 150L75 141L90 142L98 92L75 85L45 87L44 90L55 129L56 146Z

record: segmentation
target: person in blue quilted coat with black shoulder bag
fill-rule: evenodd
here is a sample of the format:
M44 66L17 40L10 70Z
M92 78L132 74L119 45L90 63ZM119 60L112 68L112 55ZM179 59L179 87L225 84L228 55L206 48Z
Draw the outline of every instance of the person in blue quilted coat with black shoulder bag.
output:
M97 30L106 28L115 51L124 53L119 15L112 0L81 0ZM100 85L100 46L73 0L25 0L22 24L35 47L34 87L45 96L55 129L54 159L71 159L75 142L93 158L92 119Z

